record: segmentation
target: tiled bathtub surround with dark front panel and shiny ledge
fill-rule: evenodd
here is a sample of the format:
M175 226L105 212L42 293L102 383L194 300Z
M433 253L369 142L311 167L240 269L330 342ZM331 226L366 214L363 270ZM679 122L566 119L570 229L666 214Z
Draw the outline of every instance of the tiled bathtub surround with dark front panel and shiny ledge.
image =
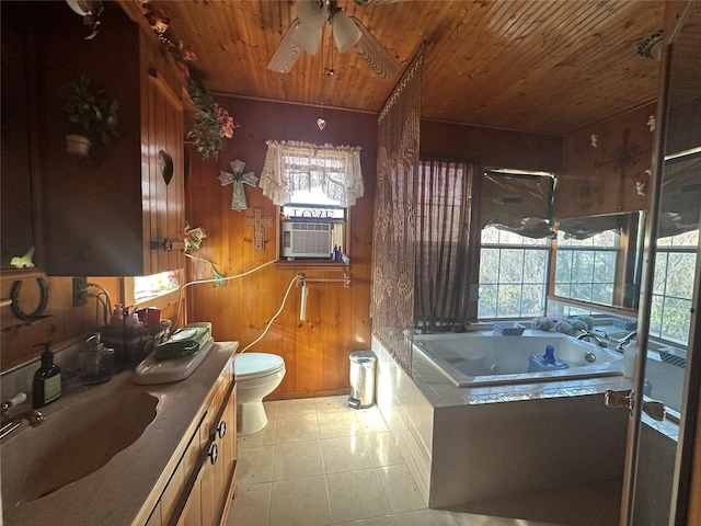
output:
M372 350L378 407L429 507L469 511L622 478L627 414L607 409L602 393L630 380L457 388L420 355L412 380L379 341Z

